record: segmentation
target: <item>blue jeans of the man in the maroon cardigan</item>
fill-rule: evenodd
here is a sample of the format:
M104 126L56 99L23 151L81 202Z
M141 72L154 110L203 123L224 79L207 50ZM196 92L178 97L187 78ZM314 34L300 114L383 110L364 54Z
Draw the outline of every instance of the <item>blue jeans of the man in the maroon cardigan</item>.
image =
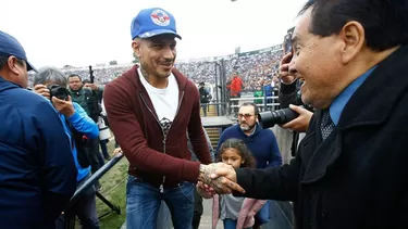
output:
M164 189L163 193L152 185L128 176L126 186L126 228L156 228L161 201L169 206L173 226L190 229L194 214L194 185L182 182Z

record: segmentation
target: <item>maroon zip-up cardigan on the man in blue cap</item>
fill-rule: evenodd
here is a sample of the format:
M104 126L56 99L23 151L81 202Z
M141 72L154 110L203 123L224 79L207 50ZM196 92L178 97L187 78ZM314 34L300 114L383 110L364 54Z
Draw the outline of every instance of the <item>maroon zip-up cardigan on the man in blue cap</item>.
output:
M163 176L164 187L174 187L181 181L196 182L200 163L189 161L186 130L199 161L211 163L201 126L197 87L173 68L178 84L180 107L164 140L137 68L135 65L109 82L103 94L110 127L129 161L129 174L156 187L162 183Z

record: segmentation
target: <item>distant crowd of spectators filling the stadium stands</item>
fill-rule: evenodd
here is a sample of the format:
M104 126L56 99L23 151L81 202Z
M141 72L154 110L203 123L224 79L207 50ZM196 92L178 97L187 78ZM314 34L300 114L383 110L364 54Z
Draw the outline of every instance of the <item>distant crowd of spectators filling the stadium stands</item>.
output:
M201 81L215 82L215 62L221 64L225 71L227 81L238 75L243 79L243 90L254 91L258 87L271 84L273 76L277 74L279 60L282 58L281 46L267 48L246 53L226 56L206 58L197 60L178 61L175 66L197 85ZM92 66L95 82L108 84L123 72L129 69L133 63L121 65ZM89 67L65 66L61 68L66 75L78 74L83 79L89 79ZM33 86L33 75L29 75L29 87Z

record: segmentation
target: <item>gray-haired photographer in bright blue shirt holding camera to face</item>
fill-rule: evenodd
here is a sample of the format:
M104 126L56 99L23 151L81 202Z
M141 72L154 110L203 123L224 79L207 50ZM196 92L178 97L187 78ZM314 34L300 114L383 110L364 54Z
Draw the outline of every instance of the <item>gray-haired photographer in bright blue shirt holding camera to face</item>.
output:
M98 126L86 114L84 109L72 102L66 90L66 77L64 73L54 67L44 67L34 77L34 91L51 101L58 111L60 119L69 136L72 147L72 155L77 168L77 187L90 177L90 165L85 148L84 138L95 139L99 136ZM86 190L79 200L69 209L70 214L77 215L83 228L99 228L96 211L95 188ZM64 216L57 220L57 228L64 227Z

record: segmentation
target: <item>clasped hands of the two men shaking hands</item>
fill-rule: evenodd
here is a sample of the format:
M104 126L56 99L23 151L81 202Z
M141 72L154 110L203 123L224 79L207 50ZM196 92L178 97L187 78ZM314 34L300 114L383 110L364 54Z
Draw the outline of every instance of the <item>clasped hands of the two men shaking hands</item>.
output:
M214 193L230 194L234 191L245 193L237 183L235 169L224 163L200 165L197 190L203 198L211 198Z

